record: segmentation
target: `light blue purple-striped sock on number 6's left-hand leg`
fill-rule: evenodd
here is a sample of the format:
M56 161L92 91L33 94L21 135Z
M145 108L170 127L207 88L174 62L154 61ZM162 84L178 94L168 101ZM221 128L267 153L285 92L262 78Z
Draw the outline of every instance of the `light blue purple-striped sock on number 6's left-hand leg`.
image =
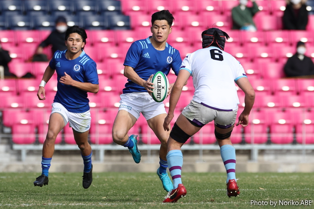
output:
M183 165L183 155L181 150L174 149L168 152L167 161L169 164L169 171L173 181L173 189L176 189L181 180L181 167Z

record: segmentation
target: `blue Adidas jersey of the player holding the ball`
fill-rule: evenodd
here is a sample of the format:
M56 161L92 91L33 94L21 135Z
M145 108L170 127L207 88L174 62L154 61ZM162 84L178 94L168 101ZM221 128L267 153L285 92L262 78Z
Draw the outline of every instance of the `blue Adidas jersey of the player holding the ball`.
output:
M181 57L178 50L166 43L165 50L156 50L147 39L137 40L132 43L127 51L123 65L134 68L134 71L144 80L147 80L152 74L162 71L169 74L170 68L178 75L181 67ZM123 93L147 92L147 90L130 79L127 79Z

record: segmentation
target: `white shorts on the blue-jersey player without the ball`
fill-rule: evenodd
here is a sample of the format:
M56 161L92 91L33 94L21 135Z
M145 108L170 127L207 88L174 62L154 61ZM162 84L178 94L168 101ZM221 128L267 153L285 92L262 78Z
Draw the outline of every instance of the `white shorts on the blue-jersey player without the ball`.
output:
M81 133L89 130L91 120L89 110L83 113L69 112L58 102L53 102L51 106L51 114L56 112L59 113L62 116L65 125L69 122L70 127Z

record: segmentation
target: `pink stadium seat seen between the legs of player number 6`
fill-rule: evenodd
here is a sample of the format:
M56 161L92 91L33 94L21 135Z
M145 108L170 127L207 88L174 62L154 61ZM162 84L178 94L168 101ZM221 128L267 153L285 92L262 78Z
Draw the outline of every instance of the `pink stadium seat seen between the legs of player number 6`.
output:
M216 142L214 121L206 124L193 135L195 144L214 144Z

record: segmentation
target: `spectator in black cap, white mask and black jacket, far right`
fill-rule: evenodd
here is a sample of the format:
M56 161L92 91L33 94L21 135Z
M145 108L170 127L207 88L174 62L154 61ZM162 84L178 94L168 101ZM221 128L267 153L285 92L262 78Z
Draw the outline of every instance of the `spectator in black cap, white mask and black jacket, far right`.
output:
M314 64L310 57L304 55L306 52L305 43L299 41L296 44L296 53L290 57L284 65L284 72L287 77L314 75Z

